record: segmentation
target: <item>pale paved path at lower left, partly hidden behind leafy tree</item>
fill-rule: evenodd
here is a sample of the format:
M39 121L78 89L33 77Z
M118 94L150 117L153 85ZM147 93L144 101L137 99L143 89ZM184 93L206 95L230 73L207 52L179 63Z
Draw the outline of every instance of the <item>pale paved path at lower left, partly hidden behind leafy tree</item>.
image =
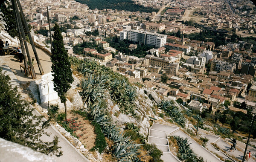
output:
M17 80L16 75L12 72L8 65L1 65L3 67L3 71L6 71L11 78L10 84L15 83L15 85L19 85L19 81ZM18 88L19 93L21 93L22 98L27 98L28 95L22 93L22 89ZM41 115L37 110L34 110L33 113L35 115ZM61 150L63 151L63 155L60 157L53 156L56 162L90 162L86 159L79 150L77 150L61 133L55 129L52 125L46 129L48 133L51 135L42 136L41 139L43 141L52 141L54 136L58 136L58 146L61 146Z

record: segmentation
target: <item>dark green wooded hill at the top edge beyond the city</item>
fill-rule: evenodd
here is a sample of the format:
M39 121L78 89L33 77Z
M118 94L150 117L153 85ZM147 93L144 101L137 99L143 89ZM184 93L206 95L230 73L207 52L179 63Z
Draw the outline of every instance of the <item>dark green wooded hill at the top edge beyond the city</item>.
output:
M136 5L131 0L76 0L77 2L87 4L90 9L117 9L131 12L157 12L157 9Z

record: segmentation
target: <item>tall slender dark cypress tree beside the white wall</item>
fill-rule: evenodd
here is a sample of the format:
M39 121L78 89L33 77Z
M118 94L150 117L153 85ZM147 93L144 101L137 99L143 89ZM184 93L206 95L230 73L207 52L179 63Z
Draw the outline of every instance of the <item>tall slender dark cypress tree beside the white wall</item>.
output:
M64 47L63 37L57 24L53 27L54 35L52 36L52 76L54 90L58 93L61 103L64 103L67 120L67 91L74 81L72 76L71 64L68 58L67 50Z

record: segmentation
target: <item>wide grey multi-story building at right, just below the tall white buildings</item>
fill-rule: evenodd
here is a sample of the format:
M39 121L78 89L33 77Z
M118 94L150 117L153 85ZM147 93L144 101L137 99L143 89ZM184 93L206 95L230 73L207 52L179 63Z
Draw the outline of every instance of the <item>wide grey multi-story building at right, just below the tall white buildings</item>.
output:
M211 68L210 71L230 71L230 72L235 72L236 70L236 64L235 63L228 63L224 61L219 61L219 60L213 60L211 62Z

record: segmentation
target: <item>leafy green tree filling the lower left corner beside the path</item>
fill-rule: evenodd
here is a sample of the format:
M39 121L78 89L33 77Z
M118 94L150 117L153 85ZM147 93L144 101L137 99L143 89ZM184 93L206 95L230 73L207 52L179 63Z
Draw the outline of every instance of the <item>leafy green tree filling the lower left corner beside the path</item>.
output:
M21 99L17 87L11 88L8 84L9 75L2 71L0 68L0 137L47 155L61 156L57 136L54 136L52 142L40 139L43 135L49 136L45 132L49 120L44 122L43 116L33 115L29 103Z

